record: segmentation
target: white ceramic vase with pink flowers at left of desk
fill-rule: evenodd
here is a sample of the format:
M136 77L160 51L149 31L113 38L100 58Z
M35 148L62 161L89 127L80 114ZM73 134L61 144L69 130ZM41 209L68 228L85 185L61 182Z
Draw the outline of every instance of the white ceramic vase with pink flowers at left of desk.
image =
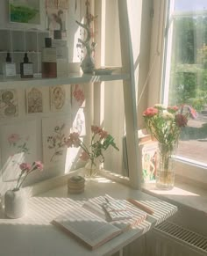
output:
M25 215L26 212L26 194L21 189L26 177L34 172L43 170L43 164L35 161L30 165L29 163L19 164L21 170L16 186L12 190L8 190L4 194L4 211L6 216L10 218L19 218Z

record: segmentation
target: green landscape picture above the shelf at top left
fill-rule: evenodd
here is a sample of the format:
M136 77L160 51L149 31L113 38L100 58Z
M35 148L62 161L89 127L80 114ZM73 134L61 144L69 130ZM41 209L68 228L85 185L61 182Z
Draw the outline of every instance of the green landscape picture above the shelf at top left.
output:
M10 21L39 25L39 4L39 0L9 0Z

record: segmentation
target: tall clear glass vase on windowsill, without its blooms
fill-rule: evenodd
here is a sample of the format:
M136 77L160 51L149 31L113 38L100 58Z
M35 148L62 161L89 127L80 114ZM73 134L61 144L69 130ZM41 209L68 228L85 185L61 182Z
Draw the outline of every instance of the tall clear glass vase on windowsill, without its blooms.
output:
M175 185L175 150L177 143L158 143L156 187L158 189L170 190Z

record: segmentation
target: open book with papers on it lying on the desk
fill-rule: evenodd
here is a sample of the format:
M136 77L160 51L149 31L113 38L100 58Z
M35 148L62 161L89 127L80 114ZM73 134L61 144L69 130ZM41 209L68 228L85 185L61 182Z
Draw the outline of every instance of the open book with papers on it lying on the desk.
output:
M106 195L89 199L82 206L71 205L52 223L93 250L145 219L146 212L129 201Z

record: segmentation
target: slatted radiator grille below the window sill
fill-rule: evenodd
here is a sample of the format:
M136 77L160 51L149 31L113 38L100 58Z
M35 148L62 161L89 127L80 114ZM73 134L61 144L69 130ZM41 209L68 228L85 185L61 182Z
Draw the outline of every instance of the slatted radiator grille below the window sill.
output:
M195 252L193 255L207 255L207 238L196 232L185 229L175 223L165 221L154 228L154 231L161 233L166 238L171 238L179 244L188 248L188 250ZM165 241L163 240L163 244ZM196 254L197 252L197 254ZM185 254L188 255L188 254Z

